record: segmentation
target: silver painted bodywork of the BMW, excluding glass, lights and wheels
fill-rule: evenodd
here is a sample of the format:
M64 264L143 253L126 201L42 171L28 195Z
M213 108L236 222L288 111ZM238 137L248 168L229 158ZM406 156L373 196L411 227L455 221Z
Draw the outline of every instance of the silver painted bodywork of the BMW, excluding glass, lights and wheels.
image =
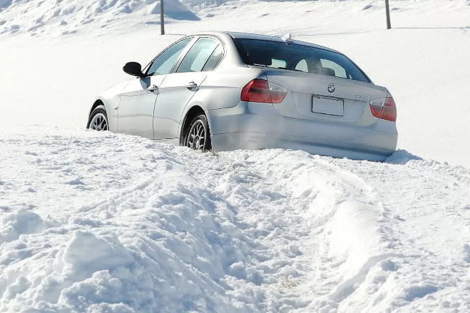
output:
M177 141L187 112L199 106L208 118L213 150L290 148L371 160L383 160L395 151L396 123L373 116L369 108L371 101L383 101L390 95L386 88L346 78L246 65L233 42L234 38L281 38L224 32L191 37L194 39L178 62L198 38L213 37L224 48L218 66L212 71L133 78L107 90L97 99L106 106L111 131ZM241 89L255 78L284 86L288 92L282 103L242 102ZM191 82L196 89L185 87ZM328 90L331 84L334 92ZM158 86L158 92L148 91L151 85ZM312 97L342 99L342 111L315 112Z

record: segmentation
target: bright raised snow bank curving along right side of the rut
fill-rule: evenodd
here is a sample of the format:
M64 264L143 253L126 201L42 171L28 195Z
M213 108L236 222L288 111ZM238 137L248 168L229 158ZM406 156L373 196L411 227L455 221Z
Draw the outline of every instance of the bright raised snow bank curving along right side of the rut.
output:
M396 251L401 243L391 228L394 221L372 186L328 158L302 152L277 158L289 173L287 179L278 178L280 184L290 189L296 207L310 220L305 247L318 248L306 254L310 270L297 291L313 301L308 310L334 311L371 268L393 267L391 258L405 257ZM318 300L322 294L324 299Z

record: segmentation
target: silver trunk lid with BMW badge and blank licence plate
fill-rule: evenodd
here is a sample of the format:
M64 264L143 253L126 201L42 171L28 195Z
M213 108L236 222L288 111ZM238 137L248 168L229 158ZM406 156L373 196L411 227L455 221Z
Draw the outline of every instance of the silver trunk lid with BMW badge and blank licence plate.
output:
M384 101L387 89L371 83L315 73L263 68L267 80L288 89L276 110L293 118L369 126L377 117L369 103Z

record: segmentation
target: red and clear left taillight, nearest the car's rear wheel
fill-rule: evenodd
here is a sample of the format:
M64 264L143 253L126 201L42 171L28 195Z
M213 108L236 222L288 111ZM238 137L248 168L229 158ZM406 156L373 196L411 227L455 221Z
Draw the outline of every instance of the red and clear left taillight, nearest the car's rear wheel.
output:
M256 78L241 89L241 101L281 103L287 89L265 79Z

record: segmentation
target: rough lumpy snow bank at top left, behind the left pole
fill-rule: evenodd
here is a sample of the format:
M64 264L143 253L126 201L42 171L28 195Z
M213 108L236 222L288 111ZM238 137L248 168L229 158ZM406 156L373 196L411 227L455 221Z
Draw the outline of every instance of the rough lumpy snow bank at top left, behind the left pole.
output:
M165 16L169 18L167 22L199 20L197 15L179 0L165 0L164 4ZM0 35L66 35L82 29L112 28L126 24L128 27L129 23L138 25L154 22L153 20L159 21L158 17L152 18L155 14L160 14L158 0L1 0ZM87 27L88 24L91 28Z

